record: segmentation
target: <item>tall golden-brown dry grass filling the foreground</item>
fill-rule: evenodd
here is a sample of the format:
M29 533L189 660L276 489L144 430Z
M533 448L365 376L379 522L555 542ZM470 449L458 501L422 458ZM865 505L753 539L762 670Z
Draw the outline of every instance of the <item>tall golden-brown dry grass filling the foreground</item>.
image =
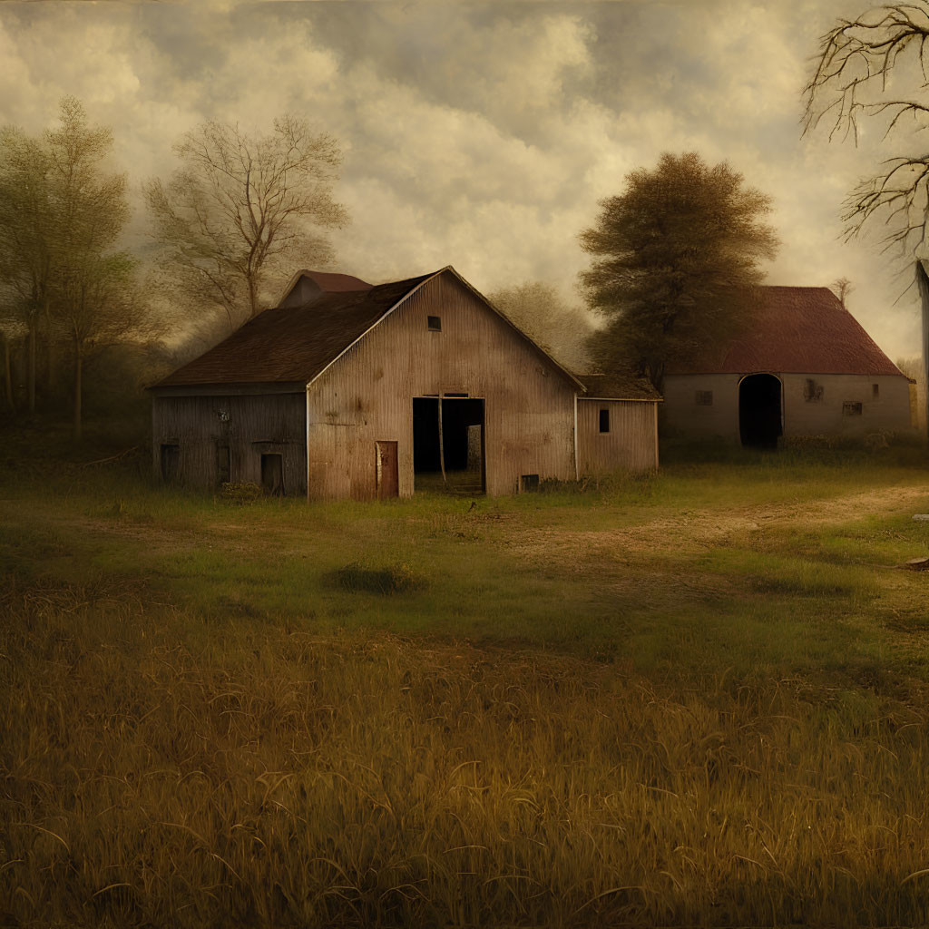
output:
M929 920L923 695L0 595L0 924Z

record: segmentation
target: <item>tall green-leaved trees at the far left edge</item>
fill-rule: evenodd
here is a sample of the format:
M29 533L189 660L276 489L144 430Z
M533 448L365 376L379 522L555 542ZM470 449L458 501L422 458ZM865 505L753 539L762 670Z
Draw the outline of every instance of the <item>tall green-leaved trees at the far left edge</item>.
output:
M8 126L0 134L0 288L6 315L28 334L29 411L41 320L49 393L60 367L54 347L64 342L71 350L74 438L82 433L88 356L159 329L149 295L137 286L136 259L117 250L129 208L125 176L106 169L111 147L111 130L90 126L71 97L61 100L59 126L42 137ZM8 336L5 344L8 350ZM5 357L10 406L11 367Z

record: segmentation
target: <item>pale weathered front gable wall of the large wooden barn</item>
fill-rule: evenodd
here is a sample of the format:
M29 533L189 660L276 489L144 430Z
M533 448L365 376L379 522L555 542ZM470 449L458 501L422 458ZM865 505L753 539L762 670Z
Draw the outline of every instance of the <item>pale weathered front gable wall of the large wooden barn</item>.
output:
M412 495L412 398L439 393L485 401L489 494L516 492L523 474L574 477L573 386L446 273L307 388L310 498L375 497L378 441L398 443L399 494Z

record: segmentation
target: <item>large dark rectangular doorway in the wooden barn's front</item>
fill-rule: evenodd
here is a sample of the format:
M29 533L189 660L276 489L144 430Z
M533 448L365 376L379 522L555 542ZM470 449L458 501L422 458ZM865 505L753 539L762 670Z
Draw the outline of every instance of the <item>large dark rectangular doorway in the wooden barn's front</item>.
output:
M412 399L412 471L415 491L484 492L483 399Z

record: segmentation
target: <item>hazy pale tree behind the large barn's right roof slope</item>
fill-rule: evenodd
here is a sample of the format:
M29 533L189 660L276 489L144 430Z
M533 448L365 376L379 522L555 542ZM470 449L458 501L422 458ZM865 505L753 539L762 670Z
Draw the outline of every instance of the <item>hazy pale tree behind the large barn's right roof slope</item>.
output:
M488 295L498 309L530 338L572 371L587 367L586 343L593 327L577 307L569 307L551 284L526 281Z

